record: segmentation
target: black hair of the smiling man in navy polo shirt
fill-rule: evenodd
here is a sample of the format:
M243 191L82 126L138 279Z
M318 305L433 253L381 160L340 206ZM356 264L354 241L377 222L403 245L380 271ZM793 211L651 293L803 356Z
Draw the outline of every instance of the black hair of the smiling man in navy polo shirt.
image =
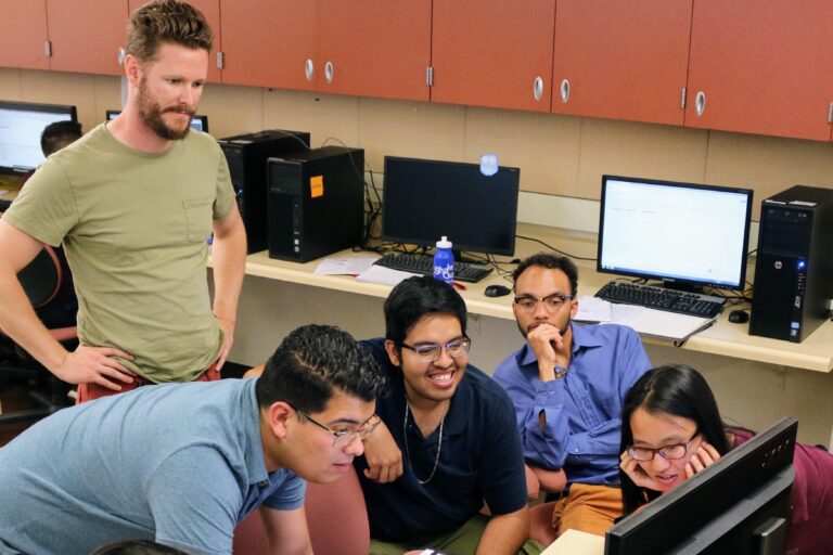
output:
M408 278L385 299L385 338L397 347L426 314L449 314L460 322L465 335L465 301L454 288L432 275Z

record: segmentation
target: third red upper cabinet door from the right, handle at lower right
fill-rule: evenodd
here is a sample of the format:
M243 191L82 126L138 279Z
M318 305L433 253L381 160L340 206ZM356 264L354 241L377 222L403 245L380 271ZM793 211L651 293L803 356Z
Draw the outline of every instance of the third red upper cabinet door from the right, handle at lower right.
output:
M434 0L431 100L550 111L555 0Z

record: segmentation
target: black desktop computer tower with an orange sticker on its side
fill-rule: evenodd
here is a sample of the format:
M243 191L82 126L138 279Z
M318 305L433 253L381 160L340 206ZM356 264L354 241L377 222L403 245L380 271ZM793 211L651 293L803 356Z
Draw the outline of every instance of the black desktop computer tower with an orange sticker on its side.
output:
M269 257L307 262L361 243L364 151L324 146L269 158Z

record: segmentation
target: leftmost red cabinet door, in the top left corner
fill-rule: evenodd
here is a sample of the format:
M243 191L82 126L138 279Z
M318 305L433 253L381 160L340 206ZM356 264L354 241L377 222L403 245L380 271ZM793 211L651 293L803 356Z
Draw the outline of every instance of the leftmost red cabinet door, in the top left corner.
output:
M49 69L46 0L0 0L0 66Z

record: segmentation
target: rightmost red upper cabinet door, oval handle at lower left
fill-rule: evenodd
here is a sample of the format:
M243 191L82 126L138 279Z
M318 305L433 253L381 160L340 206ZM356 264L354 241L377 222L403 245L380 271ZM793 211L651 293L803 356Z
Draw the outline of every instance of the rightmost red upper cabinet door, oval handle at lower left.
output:
M833 2L695 0L685 126L830 140Z

